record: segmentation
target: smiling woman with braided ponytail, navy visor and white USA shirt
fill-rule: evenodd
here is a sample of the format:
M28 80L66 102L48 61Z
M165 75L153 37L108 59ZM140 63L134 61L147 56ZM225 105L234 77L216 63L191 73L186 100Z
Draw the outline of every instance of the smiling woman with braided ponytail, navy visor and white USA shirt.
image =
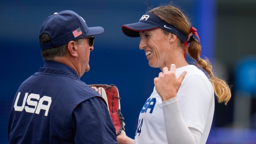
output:
M139 47L145 50L149 66L162 72L140 112L135 140L123 131L117 137L119 144L205 144L213 120L214 93L225 104L231 93L225 81L213 76L208 59L201 59L197 30L190 28L180 9L167 5L150 10L137 23L123 25L122 31L141 37ZM187 63L186 52L208 77Z

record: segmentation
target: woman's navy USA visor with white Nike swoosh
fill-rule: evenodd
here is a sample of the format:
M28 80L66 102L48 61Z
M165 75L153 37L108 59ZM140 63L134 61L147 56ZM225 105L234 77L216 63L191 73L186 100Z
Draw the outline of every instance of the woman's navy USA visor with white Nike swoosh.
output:
M167 24L151 12L146 12L137 23L123 25L122 31L128 37L140 37L139 31L150 31L156 28L163 28L166 31L174 33L183 43L187 40L187 35L180 32L174 26Z

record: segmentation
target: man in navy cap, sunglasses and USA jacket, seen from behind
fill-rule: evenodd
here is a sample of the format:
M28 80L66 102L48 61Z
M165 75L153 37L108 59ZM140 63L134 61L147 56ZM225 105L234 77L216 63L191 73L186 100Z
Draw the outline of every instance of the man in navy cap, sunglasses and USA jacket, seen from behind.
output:
M90 69L94 35L103 31L88 28L69 10L43 22L39 41L45 64L17 90L9 144L117 144L104 100L80 80Z

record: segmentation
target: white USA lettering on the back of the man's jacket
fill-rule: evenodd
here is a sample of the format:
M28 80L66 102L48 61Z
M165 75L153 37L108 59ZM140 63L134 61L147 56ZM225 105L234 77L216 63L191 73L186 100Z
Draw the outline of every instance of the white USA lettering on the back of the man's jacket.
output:
M52 98L51 97L43 96L43 97L40 98L39 94L32 94L31 93L31 94L28 95L28 93L26 92L25 97L23 99L22 106L17 106L17 103L19 101L19 96L20 96L20 92L18 93L17 98L16 98L15 103L14 103L14 110L15 111L23 111L23 109L25 108L25 111L28 112L28 113L39 114L40 110L43 109L43 110L45 110L45 116L48 115L48 111L49 111L50 105L52 103ZM39 100L39 102L32 101L31 99L37 99L37 100ZM48 102L47 105L43 104L43 102L45 102L45 101ZM26 102L29 106L35 106L35 107L30 108L28 106L25 106Z

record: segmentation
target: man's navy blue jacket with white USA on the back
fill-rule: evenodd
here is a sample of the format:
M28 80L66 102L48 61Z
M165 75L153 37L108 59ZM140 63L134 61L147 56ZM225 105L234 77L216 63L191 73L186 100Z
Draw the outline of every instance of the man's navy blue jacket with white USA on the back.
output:
M45 61L17 90L9 144L117 144L106 104L65 64Z

